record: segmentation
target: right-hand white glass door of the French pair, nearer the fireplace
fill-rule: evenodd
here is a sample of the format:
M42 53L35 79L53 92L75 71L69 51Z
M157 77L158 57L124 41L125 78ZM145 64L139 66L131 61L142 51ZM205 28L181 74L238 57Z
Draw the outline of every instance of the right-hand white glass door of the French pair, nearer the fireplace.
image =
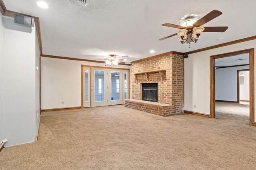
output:
M123 104L123 70L108 69L108 105Z

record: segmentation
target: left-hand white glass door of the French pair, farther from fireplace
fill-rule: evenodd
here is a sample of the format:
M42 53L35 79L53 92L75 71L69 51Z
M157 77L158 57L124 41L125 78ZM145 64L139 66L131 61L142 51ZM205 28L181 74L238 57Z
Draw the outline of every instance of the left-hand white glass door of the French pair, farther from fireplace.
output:
M91 106L108 106L108 69L92 68L91 74Z

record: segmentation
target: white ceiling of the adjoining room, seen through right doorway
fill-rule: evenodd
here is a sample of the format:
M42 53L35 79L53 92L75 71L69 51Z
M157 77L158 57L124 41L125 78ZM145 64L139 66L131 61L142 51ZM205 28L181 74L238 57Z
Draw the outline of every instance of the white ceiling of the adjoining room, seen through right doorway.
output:
M215 62L215 66L236 66L236 65L242 65L242 64L249 64L249 56L250 56L249 53L235 55L235 56L215 59L214 62ZM245 60L237 61L237 59L245 59Z

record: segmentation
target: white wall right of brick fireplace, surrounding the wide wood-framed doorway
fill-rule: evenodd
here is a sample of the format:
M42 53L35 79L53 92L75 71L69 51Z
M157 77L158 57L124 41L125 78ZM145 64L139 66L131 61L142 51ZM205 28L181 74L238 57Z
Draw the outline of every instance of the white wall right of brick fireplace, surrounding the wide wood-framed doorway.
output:
M256 40L190 54L185 59L184 110L210 114L210 56L256 48ZM255 50L254 50L255 53ZM256 56L254 54L254 56ZM256 69L255 69L256 70ZM254 70L254 71L255 71ZM254 73L256 76L256 74ZM256 83L256 81L254 81ZM256 92L256 90L255 90ZM256 94L255 94L256 96ZM256 102L255 102L256 104ZM194 108L196 105L196 108ZM255 116L256 118L256 116Z

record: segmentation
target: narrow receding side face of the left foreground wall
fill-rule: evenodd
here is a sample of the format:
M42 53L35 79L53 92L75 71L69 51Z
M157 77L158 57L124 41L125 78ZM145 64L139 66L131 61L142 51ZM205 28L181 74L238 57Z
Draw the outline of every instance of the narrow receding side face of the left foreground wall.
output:
M39 121L40 121L40 49L38 43L38 37L35 29L36 34L36 53L35 53L35 68L38 67L38 70L35 69L36 74L36 135L38 135L38 128L39 128Z

